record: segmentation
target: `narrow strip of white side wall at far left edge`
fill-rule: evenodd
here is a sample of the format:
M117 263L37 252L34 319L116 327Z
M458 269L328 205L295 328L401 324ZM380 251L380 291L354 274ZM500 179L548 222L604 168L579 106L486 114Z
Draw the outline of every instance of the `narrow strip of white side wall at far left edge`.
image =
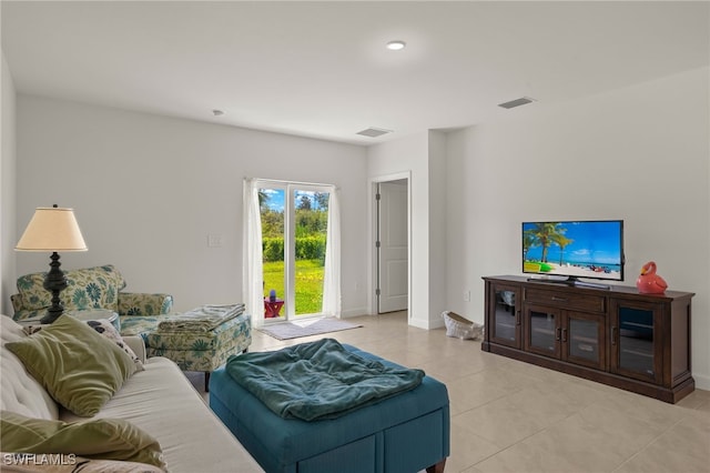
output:
M2 53L0 74L2 115L0 117L0 313L11 314L10 294L14 292L16 264L16 91Z

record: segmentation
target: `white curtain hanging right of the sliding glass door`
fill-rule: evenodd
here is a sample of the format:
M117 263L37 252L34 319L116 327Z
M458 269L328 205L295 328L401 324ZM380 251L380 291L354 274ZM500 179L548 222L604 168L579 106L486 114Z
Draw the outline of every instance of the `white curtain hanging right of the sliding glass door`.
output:
M328 198L328 228L325 244L323 313L341 316L341 199L333 188Z

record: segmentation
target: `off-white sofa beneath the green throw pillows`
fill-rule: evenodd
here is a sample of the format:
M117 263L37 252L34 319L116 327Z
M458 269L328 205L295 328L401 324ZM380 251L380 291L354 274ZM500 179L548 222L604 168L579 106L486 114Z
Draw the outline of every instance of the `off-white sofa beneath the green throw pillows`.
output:
M22 326L0 315L0 409L24 416L64 422L85 420L52 400L6 342L24 336ZM124 338L144 361L94 416L123 419L159 442L166 469L179 472L261 472L241 443L205 404L178 365L165 358L145 360L140 338Z

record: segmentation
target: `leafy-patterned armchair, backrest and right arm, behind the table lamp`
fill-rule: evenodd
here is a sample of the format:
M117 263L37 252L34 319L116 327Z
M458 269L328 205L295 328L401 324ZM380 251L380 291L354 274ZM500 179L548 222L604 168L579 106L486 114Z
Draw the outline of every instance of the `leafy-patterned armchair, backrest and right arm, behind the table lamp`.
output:
M106 309L121 319L128 315L168 314L173 306L170 294L122 292L125 280L111 264L65 271L67 289L60 299L67 311ZM18 293L12 294L17 321L42 316L51 305L52 294L44 289L47 273L32 273L18 278Z

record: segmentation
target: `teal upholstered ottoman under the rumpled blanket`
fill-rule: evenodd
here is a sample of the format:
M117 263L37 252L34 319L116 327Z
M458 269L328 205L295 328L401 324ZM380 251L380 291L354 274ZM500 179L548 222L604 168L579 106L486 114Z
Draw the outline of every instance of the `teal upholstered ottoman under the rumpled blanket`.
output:
M210 407L267 473L443 472L449 455L448 392L429 376L377 404L306 422L274 414L221 366L210 378Z

